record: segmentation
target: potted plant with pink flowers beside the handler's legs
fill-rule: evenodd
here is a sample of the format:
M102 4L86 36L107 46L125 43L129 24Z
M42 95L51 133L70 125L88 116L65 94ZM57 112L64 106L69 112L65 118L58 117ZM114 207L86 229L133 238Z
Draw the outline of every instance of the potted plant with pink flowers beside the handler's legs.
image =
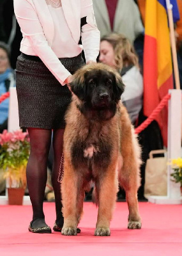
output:
M7 181L9 204L22 204L26 189L26 165L29 150L27 132L4 130L0 134L0 170L4 172L4 179ZM12 202L11 196L19 202Z

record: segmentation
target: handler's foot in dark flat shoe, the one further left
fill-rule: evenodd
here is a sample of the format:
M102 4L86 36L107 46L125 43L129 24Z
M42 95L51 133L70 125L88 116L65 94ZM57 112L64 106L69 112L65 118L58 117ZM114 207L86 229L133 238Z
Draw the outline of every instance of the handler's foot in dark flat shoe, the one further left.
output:
M43 218L31 221L29 231L33 233L51 233L51 228L45 223Z

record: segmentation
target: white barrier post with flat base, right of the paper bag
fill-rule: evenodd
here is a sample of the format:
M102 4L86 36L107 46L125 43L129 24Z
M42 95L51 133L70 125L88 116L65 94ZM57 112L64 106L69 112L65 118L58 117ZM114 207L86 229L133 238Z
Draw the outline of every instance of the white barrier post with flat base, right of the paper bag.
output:
M181 90L169 90L171 99L169 100L168 111L168 139L167 139L167 159L181 157L181 117L182 100ZM182 204L180 184L171 180L171 166L167 166L167 196L149 196L148 200L155 204Z

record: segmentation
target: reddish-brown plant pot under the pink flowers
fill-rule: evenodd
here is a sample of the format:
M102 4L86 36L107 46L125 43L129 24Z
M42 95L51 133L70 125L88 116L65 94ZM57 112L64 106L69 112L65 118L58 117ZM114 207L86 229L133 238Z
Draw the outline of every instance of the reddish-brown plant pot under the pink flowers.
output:
M22 205L24 198L24 188L8 188L8 204Z

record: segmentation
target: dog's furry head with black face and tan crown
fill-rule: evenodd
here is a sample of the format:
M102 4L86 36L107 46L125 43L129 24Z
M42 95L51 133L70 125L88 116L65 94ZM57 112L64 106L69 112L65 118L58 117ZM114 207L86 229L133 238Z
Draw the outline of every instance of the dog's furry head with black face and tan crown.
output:
M70 87L79 99L78 108L87 118L107 120L115 115L125 86L116 70L93 63L74 74Z

